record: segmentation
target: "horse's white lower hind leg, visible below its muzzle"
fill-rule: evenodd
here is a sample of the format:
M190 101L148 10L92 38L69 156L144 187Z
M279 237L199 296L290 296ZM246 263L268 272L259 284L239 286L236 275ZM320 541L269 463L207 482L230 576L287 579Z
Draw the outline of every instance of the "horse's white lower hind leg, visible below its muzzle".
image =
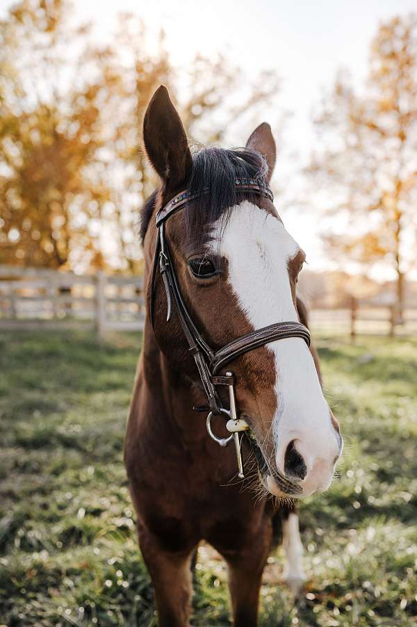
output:
M306 580L302 565L303 547L300 537L298 516L290 512L282 521L282 546L286 554L284 578L291 592L297 596Z

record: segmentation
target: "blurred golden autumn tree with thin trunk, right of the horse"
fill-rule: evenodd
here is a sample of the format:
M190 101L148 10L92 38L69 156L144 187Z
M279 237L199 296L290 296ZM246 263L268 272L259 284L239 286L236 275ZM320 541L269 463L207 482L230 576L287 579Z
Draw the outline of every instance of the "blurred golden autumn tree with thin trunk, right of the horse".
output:
M359 92L339 74L315 122L310 172L322 182L322 204L338 224L327 245L344 263L389 264L401 318L404 277L416 250L416 15L379 26L366 86Z

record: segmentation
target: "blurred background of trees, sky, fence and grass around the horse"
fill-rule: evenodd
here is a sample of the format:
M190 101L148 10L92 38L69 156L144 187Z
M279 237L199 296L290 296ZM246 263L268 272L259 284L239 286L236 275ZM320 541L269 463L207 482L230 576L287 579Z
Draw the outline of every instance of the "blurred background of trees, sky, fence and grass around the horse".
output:
M417 13L413 0L0 0L0 623L154 625L122 466L145 316L142 117L190 142L270 122L275 205L306 251L345 458L302 505L299 605L270 557L261 624L417 615ZM97 338L98 336L98 338ZM199 550L196 625L227 625Z

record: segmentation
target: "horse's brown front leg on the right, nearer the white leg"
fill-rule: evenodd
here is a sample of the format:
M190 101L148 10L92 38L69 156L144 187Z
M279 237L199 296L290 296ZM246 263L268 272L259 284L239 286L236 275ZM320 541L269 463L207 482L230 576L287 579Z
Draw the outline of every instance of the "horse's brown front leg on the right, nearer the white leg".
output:
M270 532L260 533L240 551L222 551L229 567L229 589L234 627L255 627L258 620L259 589L270 552Z

